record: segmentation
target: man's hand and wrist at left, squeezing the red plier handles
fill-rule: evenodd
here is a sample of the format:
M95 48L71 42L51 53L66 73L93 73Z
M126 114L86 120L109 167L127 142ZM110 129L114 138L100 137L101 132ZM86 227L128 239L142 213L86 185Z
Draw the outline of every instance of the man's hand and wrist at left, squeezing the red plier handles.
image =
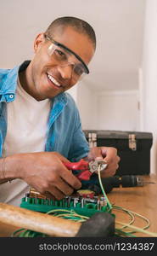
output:
M63 161L69 160L57 152L14 154L5 160L5 177L21 178L42 195L60 200L81 188Z

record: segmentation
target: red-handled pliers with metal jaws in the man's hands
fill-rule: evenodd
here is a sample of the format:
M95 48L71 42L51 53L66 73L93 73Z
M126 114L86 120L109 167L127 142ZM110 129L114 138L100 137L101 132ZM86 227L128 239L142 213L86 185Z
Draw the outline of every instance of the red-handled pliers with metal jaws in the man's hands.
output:
M98 171L98 166L100 165L100 171L104 170L107 166L104 160L92 160L87 162L86 160L81 159L78 162L63 162L64 166L71 171L79 171L76 177L80 180L89 180L93 172Z

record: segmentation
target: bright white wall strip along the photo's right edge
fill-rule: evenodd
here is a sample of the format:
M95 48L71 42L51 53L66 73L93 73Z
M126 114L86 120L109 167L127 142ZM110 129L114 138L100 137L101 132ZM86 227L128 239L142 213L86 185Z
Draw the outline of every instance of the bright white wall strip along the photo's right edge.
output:
M143 42L143 130L153 132L151 172L157 172L157 1L146 4Z

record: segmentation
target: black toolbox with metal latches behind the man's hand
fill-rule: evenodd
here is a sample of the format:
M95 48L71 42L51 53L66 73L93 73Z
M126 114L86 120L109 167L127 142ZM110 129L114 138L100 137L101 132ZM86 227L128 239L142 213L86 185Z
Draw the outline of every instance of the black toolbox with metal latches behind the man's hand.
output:
M115 147L121 157L116 175L145 175L150 173L151 132L84 130L89 146Z

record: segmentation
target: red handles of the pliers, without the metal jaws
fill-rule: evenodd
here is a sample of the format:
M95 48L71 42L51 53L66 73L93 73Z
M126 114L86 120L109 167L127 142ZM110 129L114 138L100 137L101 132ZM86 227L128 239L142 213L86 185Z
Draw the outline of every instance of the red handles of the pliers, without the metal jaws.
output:
M75 170L81 170L83 172L79 172L76 177L80 180L89 180L93 172L89 171L89 163L83 159L81 159L78 162L64 162L64 166L66 166L67 169L75 171Z

